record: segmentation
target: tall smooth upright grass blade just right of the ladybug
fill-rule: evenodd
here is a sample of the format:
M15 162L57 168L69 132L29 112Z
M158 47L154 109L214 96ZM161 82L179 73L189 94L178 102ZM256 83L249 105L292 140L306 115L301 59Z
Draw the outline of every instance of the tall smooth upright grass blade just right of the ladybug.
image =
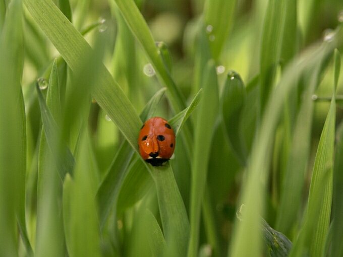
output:
M214 131L214 123L218 113L218 86L217 75L213 61L209 61L205 70L203 82L203 97L200 103L195 125L195 141L192 166L191 189L191 237L188 256L195 257L198 252L200 231L201 203L204 195L207 165L210 155L210 146Z

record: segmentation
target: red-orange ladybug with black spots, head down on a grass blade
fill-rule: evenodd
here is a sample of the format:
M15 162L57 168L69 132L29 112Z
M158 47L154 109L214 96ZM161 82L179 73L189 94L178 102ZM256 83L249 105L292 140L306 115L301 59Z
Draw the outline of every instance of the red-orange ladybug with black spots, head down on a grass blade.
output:
M174 153L174 131L165 119L152 117L141 127L138 145L143 160L152 166L161 166Z

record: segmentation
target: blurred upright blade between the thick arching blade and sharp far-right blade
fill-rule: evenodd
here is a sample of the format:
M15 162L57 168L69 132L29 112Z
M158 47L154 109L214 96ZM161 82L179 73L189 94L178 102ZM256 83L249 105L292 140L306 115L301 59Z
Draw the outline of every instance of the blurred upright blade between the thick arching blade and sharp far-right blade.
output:
M297 116L292 146L281 187L276 228L286 235L290 233L292 225L297 220L296 217L302 199L305 173L310 154L311 124L314 107L311 96L318 84L318 71L318 69L315 69L311 72L309 86L303 94L303 103Z

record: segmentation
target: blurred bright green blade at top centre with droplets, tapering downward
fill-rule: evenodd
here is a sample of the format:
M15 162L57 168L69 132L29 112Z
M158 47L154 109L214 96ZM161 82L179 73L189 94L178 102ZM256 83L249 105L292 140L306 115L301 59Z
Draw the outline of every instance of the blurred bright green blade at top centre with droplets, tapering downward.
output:
M205 24L212 56L218 59L221 49L232 27L236 0L207 0L205 2Z

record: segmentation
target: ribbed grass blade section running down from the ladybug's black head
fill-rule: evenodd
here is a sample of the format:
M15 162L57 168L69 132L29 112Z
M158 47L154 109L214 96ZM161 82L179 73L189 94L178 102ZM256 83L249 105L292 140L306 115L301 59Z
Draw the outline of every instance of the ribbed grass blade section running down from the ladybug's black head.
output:
M172 167L167 163L164 166L150 166L149 168L156 186L165 241L168 247L171 245L178 246L174 248L178 256L185 256L190 228L186 208L175 181Z

